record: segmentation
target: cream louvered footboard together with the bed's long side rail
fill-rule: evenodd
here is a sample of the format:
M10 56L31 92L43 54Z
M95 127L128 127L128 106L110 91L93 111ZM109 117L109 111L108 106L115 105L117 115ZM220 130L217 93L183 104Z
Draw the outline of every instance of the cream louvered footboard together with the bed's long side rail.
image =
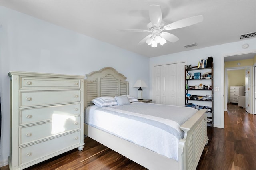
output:
M84 134L150 170L195 170L209 140L205 112L201 109L180 127L185 134L179 143L178 162L87 124Z

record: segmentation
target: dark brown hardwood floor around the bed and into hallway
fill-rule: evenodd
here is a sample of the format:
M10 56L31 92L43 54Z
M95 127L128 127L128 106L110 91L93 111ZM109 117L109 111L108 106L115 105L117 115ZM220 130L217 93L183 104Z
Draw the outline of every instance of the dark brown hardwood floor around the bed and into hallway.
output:
M228 104L225 128L207 128L209 143L198 163L197 170L255 170L256 115ZM26 170L146 170L146 168L85 138L83 151L77 149L46 160ZM8 166L1 170L9 170Z

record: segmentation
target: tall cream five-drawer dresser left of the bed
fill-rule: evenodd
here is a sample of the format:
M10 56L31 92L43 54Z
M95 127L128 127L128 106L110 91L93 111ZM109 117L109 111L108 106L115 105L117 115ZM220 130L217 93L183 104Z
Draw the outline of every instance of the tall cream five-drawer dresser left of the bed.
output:
M84 148L84 76L10 72L10 170Z

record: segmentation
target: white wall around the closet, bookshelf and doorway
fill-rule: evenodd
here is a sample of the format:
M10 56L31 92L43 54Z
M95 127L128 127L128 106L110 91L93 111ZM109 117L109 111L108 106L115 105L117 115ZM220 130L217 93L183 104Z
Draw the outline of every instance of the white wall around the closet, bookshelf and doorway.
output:
M245 43L250 45L247 49L242 48ZM187 65L196 66L201 58L207 59L212 56L214 87L219 87L219 91L214 91L214 127L224 128L224 56L251 52L256 52L256 38L150 58L150 98L154 96L155 65L185 62Z

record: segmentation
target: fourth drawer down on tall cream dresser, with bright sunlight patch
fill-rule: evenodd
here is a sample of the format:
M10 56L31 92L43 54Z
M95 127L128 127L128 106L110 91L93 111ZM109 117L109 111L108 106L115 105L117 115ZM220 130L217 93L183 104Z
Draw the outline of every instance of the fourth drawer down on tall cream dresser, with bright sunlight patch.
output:
M80 116L53 115L52 122L20 127L20 145L80 129Z

